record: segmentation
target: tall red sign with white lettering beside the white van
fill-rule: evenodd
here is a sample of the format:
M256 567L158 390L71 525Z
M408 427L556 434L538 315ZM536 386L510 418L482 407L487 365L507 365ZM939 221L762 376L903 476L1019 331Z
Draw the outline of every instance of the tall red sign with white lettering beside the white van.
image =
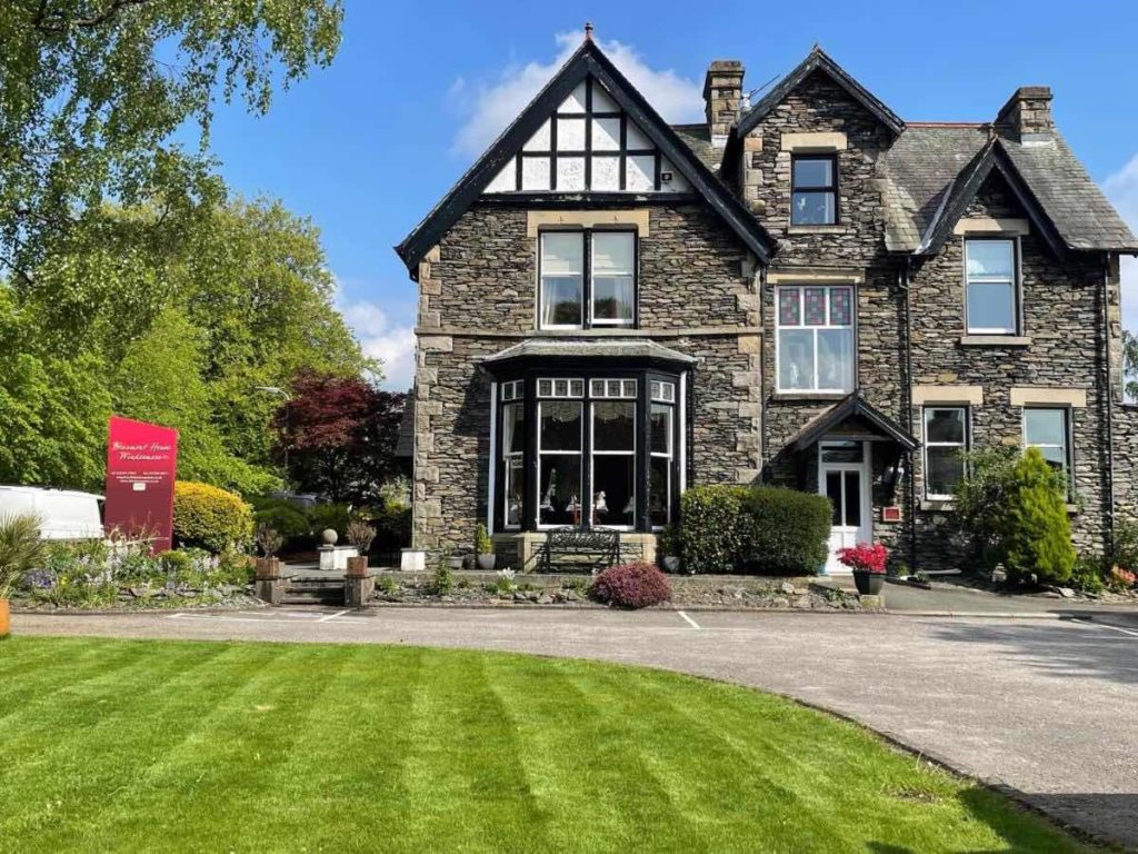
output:
M151 550L165 551L174 531L178 430L113 416L108 433L104 525L154 537Z

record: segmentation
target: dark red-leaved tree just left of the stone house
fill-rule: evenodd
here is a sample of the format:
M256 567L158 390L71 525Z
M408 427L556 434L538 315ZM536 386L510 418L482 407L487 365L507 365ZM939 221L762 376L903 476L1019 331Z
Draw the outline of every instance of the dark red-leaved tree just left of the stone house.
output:
M305 371L275 417L278 447L302 490L330 501L368 503L396 474L395 445L405 393L384 392L358 378Z

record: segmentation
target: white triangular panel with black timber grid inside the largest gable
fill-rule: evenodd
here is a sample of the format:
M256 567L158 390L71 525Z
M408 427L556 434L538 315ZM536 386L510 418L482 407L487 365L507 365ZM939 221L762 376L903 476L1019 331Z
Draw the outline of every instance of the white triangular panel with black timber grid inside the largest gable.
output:
M589 75L486 186L503 192L688 192L649 134Z

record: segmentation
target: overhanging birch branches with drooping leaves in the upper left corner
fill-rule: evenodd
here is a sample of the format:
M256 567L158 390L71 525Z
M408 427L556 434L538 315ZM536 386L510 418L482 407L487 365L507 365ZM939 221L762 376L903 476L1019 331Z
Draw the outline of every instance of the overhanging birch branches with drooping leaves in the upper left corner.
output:
M27 278L102 202L174 225L220 199L213 110L267 110L339 47L340 0L7 0L0 6L0 262ZM196 126L187 153L171 141Z

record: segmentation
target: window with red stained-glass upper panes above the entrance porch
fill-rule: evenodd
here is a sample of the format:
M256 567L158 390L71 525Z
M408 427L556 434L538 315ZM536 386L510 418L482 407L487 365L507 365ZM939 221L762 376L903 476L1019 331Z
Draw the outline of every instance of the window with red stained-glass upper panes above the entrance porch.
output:
M852 392L852 286L780 286L775 299L778 391Z

